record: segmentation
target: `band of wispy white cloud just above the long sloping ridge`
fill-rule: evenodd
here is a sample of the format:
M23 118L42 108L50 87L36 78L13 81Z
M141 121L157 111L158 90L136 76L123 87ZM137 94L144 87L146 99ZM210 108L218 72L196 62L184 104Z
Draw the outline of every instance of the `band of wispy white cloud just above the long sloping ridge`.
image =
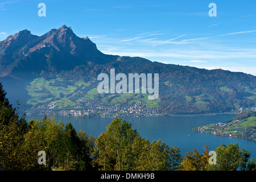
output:
M139 56L151 61L192 65L197 68L228 69L229 65L243 67L240 60L245 60L244 63L249 65L255 64L256 48L248 48L245 44L244 47L243 45L236 46L232 43L234 35L254 34L255 32L256 30L251 29L222 32L222 34L205 34L201 37L192 34L180 34L173 37L169 35L168 37L166 34L162 36L163 31L151 31L141 34L137 32L137 34L129 35L130 37L122 37L122 34L118 33L118 36L94 34L92 38L94 37L93 42L97 42L102 52L110 55ZM227 38L230 36L230 39L225 39L224 42L222 39L224 36ZM251 60L250 63L249 60ZM238 67L229 70L239 71ZM241 71L256 75L256 71L250 70L245 66Z

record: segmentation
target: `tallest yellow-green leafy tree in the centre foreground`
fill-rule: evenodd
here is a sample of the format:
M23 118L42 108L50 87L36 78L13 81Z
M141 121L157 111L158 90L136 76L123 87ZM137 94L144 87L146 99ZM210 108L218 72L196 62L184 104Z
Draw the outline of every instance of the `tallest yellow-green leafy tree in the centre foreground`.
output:
M137 131L131 128L131 123L121 118L114 119L106 128L106 133L96 139L94 155L100 157L98 164L105 164L106 159L112 161L108 169L129 170L133 166L133 158L129 158L130 144L138 135Z

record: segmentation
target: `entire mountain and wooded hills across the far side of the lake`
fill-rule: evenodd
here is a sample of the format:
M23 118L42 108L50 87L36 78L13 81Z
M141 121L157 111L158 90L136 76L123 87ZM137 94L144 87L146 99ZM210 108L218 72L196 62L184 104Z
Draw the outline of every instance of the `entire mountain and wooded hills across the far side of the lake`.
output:
M159 99L143 94L98 94L100 73L159 73ZM142 57L106 55L88 37L61 26L42 36L23 30L0 42L0 82L11 101L26 107L83 107L86 100L117 111L136 102L162 114L205 114L256 106L256 77L222 69L199 69L152 62ZM96 112L100 112L97 110Z

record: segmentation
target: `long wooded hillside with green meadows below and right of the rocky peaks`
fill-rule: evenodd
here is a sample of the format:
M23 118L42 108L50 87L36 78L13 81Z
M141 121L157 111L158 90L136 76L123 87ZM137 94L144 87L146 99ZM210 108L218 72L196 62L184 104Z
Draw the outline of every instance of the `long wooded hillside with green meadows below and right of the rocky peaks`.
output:
M35 78L27 86L31 98L27 104L34 108L56 101L56 106L80 105L80 100L108 102L114 106L129 101L142 102L147 107L158 107L164 114L223 113L240 107L256 106L255 77L242 73L208 71L172 64L152 63L139 57L122 57L122 61L105 65L80 65L73 70L63 71L56 78ZM136 66L135 66L136 65ZM108 73L159 73L159 98L148 100L147 94L98 94L97 75ZM63 94L61 94L61 92ZM69 100L69 101L67 101Z

